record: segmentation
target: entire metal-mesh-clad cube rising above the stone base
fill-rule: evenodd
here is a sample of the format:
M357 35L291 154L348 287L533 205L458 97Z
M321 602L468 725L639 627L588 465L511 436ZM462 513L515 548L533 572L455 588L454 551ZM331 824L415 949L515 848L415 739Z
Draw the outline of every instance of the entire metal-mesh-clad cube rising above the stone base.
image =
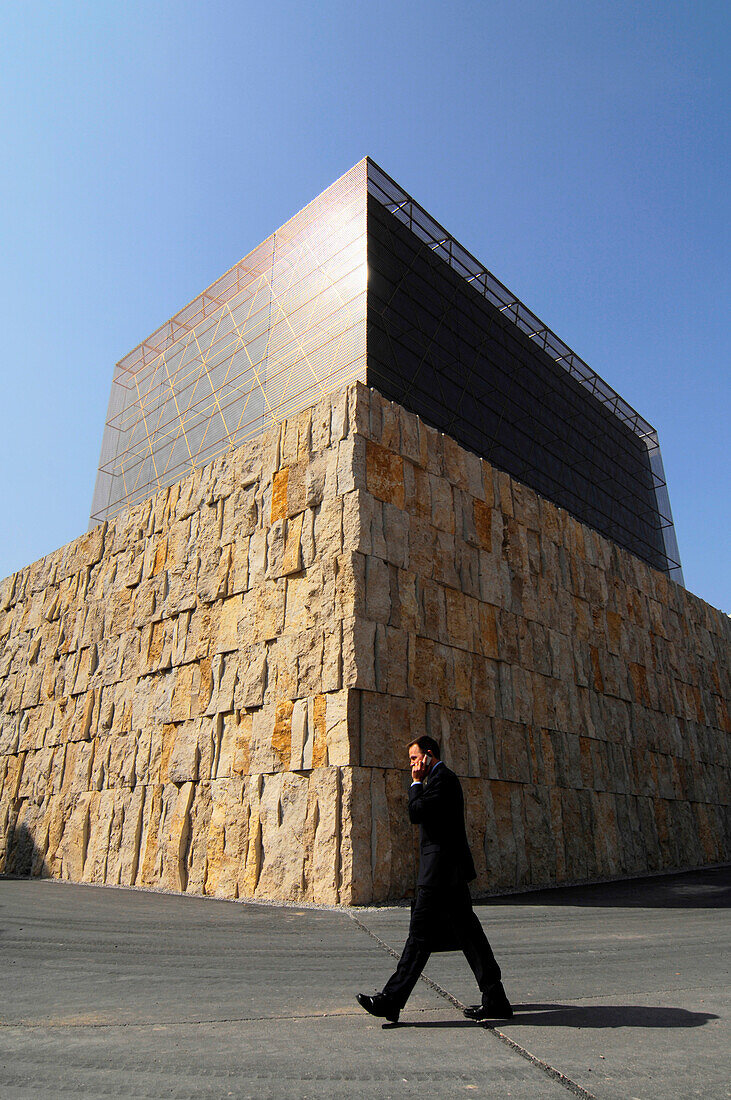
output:
M355 380L682 582L654 428L369 157L117 364L91 526Z

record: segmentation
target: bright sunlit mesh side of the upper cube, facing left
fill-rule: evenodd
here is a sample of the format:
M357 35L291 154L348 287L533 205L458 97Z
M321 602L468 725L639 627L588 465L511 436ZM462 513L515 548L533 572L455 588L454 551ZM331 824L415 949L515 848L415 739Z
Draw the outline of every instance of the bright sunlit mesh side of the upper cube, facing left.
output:
M114 370L91 525L365 381L362 161Z

